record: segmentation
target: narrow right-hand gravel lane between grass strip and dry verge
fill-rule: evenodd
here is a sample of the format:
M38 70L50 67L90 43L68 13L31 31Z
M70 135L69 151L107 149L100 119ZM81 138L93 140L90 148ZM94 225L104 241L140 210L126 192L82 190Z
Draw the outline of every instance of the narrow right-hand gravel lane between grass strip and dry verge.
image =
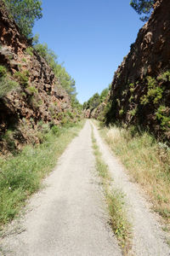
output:
M160 224L156 221L156 215L150 211L149 203L144 199L139 187L129 181L122 165L99 137L99 131L95 126L94 137L99 144L105 163L109 166L111 176L114 179L114 186L117 189L122 189L126 195L127 213L133 224L133 255L170 255L170 248L167 246L165 234L161 230Z

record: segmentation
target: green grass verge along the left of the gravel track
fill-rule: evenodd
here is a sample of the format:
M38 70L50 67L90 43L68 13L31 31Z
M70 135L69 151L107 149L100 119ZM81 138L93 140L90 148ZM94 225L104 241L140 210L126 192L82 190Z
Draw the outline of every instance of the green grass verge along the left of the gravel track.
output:
M0 159L0 230L26 204L26 199L41 187L42 178L51 172L60 154L77 136L83 121L74 127L49 131L37 147L26 146L14 157Z

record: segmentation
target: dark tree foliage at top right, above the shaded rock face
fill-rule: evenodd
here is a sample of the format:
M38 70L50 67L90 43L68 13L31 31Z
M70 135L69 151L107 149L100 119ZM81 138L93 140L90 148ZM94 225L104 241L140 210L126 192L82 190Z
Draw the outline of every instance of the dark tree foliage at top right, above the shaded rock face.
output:
M146 21L150 17L154 3L156 0L131 0L130 5L139 15L144 15L140 17L140 20Z

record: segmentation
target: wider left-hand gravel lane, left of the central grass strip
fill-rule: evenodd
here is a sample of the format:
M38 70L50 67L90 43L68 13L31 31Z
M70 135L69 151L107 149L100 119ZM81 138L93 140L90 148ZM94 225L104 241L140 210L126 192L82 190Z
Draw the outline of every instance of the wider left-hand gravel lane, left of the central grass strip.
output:
M3 255L122 255L107 222L94 168L89 121L31 198L21 225L26 231L3 239Z

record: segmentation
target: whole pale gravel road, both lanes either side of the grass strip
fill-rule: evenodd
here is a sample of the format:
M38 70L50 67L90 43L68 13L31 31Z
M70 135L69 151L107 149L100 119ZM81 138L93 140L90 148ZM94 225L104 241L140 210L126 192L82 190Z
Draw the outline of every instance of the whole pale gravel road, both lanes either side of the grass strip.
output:
M94 136L114 178L113 185L121 188L127 198L128 216L133 224L133 255L170 255L161 226L138 187L129 182L95 127ZM3 239L3 255L122 255L108 225L105 199L95 171L90 121L44 183L45 188L31 198L20 220L25 231Z

